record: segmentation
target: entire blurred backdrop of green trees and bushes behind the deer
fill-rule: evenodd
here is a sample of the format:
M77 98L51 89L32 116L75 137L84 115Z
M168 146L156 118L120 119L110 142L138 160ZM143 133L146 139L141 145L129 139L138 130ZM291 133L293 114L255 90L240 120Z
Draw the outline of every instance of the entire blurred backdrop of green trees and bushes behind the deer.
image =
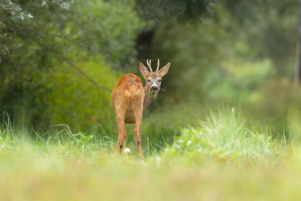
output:
M295 0L8 0L0 16L0 124L114 136L119 77L159 58L171 67L143 114L153 146L224 106L274 134L301 127Z

